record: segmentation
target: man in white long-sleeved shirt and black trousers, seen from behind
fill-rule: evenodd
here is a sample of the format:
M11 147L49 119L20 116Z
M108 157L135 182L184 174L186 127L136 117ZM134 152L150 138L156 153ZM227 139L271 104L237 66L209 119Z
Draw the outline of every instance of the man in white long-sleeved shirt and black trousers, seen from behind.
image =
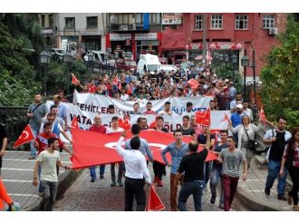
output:
M123 157L126 166L125 211L133 210L134 198L137 204L136 210L144 211L146 206L144 180L149 186L151 185L147 162L142 152L139 151L140 137L134 136L130 139L130 148L132 149L130 151L121 148L124 137L126 137L125 131L121 134L121 138L116 145L116 150Z

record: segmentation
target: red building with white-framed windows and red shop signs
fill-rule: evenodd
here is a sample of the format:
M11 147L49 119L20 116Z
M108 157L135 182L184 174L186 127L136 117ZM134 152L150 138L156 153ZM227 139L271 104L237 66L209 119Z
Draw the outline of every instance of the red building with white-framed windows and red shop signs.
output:
M252 61L253 47L256 52L256 75L259 75L265 63L263 62L265 54L279 44L276 35L285 31L286 16L286 14L263 13L183 14L181 27L164 29L159 54L176 60L183 57L191 60L200 59L205 31L207 59L224 64L225 58L221 62L215 55L228 54L227 63L231 63L231 56L236 55L236 68L242 71L240 60L247 54ZM251 76L252 69L247 69L246 73Z

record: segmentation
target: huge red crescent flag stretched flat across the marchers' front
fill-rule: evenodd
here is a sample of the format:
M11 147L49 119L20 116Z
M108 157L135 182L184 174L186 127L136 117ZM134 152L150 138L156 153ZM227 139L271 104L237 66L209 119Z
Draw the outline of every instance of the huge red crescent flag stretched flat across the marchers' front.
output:
M131 133L128 131L127 139ZM116 144L121 133L104 134L95 131L72 130L72 168L81 169L95 165L115 163L122 161L122 157L116 151ZM146 139L154 160L164 164L161 151L164 150L175 139L172 133L163 131L141 131L140 138ZM188 143L192 138L184 136L183 141ZM124 144L124 143L123 143ZM198 147L198 151L203 149ZM171 161L170 154L166 153L168 161ZM217 160L217 155L209 151L206 161Z

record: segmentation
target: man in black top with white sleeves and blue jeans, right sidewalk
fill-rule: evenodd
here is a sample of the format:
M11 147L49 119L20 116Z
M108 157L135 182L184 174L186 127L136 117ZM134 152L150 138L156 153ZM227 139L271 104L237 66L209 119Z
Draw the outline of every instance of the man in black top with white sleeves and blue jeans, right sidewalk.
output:
M285 151L285 143L288 139L291 138L291 133L285 131L285 118L279 117L277 119L277 125L275 130L269 130L265 132L264 143L271 145L269 153L269 164L268 164L268 175L265 181L265 195L270 195L270 190L275 182L275 179L278 177L277 184L277 199L285 199L285 183L286 183L286 174L287 170L285 169L285 174L280 177L279 170L281 167L283 154Z

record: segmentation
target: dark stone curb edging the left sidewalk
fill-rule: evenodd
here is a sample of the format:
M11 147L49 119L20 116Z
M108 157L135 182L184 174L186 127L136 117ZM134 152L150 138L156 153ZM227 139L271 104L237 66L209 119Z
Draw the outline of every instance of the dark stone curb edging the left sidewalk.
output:
M57 188L57 194L56 194L56 200L63 195L63 193L68 190L72 183L77 180L77 178L82 174L82 170L68 170L63 175L59 177L58 180L58 188ZM43 198L39 198L36 200L28 209L25 209L27 211L39 211L41 204L42 204Z

